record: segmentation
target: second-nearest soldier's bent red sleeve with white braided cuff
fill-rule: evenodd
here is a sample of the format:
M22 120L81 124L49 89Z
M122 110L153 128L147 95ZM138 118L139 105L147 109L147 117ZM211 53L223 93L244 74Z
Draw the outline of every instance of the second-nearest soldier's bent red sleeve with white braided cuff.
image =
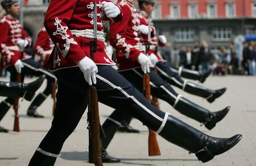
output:
M121 10L123 15L125 15L125 19L123 19L119 23L110 22L110 43L112 46L121 52L127 59L136 60L141 51L136 48L130 48L130 43L126 40L126 32L129 21L131 19L131 11L127 5L121 6Z

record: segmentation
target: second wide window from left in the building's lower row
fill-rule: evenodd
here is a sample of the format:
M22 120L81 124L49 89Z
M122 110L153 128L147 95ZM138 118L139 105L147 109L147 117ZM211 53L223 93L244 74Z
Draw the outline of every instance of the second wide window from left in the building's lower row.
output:
M213 28L212 39L213 41L230 41L232 39L232 28Z

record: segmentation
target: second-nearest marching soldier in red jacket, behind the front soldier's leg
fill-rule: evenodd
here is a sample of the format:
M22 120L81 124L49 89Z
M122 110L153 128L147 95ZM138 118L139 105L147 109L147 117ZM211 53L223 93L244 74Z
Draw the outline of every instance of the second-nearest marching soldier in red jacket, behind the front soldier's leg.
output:
M134 1L120 0L118 2L126 19L120 23L110 23L110 43L117 50L119 73L142 92L142 76L147 72L150 59L144 55L145 47L141 43L140 32L148 34L148 26L142 24L146 23L146 20L140 19L140 14L134 7ZM151 26L151 35L154 35L154 31L154 27ZM230 109L226 107L221 111L210 112L177 94L170 84L155 72L151 71L149 74L152 96L170 103L181 114L203 123L209 130L216 126L216 123L220 122ZM118 127L123 125L123 121L129 124L130 120L130 116L122 110L115 110L102 125L106 132L106 138L102 140L102 148L108 147Z

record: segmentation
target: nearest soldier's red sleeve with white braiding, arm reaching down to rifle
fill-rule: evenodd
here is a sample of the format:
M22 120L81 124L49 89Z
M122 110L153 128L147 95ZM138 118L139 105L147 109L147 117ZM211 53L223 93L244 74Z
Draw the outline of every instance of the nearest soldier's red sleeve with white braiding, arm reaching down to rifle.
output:
M67 26L77 2L78 0L52 0L44 19L44 26L52 42L59 48L60 55L73 64L86 56L80 45L72 38Z

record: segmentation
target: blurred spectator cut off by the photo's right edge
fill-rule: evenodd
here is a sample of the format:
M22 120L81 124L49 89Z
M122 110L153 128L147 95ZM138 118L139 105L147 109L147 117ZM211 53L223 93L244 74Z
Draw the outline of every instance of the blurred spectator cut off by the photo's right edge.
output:
M247 52L247 63L249 64L249 74L256 75L255 68L256 52L253 45L249 45Z

